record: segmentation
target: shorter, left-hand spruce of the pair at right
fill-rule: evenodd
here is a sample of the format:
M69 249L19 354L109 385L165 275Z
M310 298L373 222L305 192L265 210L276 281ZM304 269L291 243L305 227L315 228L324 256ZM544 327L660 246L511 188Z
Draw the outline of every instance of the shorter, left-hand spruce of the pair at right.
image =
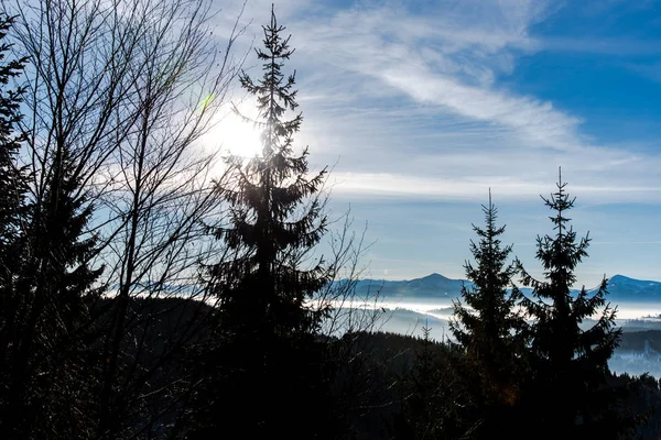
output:
M479 243L470 241L476 266L470 262L464 266L473 287L462 287L464 302L454 302L455 319L449 327L470 365L472 372L463 374L472 389L479 431L490 436L495 431L505 435L516 426L508 416L512 415L524 374L525 321L517 310L521 298L512 284L517 268L507 263L512 246L501 245L499 237L505 226L496 226L498 210L490 190L489 205L483 206L483 211L486 227L473 226Z

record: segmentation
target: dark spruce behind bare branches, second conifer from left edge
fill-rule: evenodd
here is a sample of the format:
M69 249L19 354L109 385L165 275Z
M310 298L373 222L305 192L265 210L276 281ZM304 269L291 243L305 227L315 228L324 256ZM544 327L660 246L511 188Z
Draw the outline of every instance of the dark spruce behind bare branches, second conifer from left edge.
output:
M93 270L96 238L87 231L93 207L75 176L68 147L52 157L44 190L29 205L30 221L11 292L17 306L9 353L8 404L17 417L6 438L85 438L80 414L89 400L88 309L98 297Z

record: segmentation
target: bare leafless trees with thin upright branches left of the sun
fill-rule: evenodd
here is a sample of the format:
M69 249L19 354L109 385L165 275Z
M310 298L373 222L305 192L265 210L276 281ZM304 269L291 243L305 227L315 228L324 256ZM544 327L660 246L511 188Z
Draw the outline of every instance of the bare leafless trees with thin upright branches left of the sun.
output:
M228 41L216 41L212 6L2 3L17 15L14 51L30 63L22 158L32 172L31 204L45 204L54 157L66 152L67 173L79 183L71 196L94 208L79 239L94 237L98 245L77 264L104 267L96 287L107 293L75 329L87 334L91 353L86 392L94 405L77 402L80 407L72 410L72 418L83 416L84 438L163 430L163 415L172 408L150 405L185 388L167 382L167 369L201 324L193 317L202 308L192 310L204 294L194 283L196 270L220 252L205 237L207 224L223 215L210 185L214 155L203 151L199 138L241 63L232 46L242 30L235 24ZM181 294L185 299L160 308L144 300ZM172 307L178 311L166 314ZM172 316L180 318L172 322ZM159 326L165 324L176 328L164 336Z

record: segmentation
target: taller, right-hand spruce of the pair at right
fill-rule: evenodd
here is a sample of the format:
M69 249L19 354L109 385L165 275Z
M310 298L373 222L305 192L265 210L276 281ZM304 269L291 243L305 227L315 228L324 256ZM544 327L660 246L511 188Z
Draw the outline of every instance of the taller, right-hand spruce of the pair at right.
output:
M550 217L554 234L537 239L537 257L545 279L534 279L517 263L521 282L533 288L533 298L522 300L533 320L527 419L544 438L616 439L626 436L633 422L625 419L618 403L626 389L607 385L607 362L621 333L615 328L617 308L606 304L606 278L594 294L585 286L577 294L572 292L574 271L587 256L589 238L577 241L568 223L567 211L574 199L566 193L561 173L556 186L551 198L542 197L554 211ZM583 330L583 320L595 315L596 322Z

